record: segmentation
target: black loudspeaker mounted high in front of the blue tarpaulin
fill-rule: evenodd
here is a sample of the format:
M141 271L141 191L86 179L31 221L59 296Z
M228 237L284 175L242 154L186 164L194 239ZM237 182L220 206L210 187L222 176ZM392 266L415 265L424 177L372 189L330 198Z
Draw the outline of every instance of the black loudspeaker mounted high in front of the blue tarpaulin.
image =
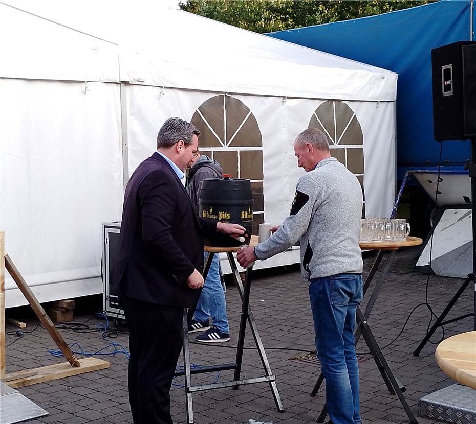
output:
M431 50L435 140L476 138L476 41Z

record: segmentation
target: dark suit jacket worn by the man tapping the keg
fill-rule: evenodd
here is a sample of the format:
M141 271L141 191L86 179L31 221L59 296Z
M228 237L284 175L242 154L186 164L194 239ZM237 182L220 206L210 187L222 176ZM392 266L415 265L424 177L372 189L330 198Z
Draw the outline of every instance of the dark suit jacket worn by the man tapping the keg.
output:
M198 218L177 174L154 153L127 183L109 283L121 295L191 307L200 290L189 289L187 278L203 271L204 235L216 225Z

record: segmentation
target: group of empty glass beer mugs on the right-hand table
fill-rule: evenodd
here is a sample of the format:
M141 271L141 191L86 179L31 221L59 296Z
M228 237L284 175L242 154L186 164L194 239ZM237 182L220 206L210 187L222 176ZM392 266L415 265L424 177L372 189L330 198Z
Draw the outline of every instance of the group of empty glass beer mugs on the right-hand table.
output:
M401 242L409 233L410 224L406 219L372 217L360 222L361 242Z

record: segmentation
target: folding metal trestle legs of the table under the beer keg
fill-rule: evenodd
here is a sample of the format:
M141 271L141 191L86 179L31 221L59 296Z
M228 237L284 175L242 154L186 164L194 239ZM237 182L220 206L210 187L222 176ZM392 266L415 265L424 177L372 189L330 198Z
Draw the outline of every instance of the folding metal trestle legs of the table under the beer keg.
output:
M245 274L245 281L244 283L241 280L240 273L236 267L235 258L233 257L233 251L236 251L236 248L205 248L208 250L208 255L205 261L204 272L203 276L206 278L208 271L210 269L211 261L215 253L218 252L226 252L228 261L231 266L231 271L233 275L234 282L240 294L241 300L243 302L242 306L242 313L240 319L240 330L238 333L238 343L236 347L236 360L235 362L228 363L228 364L220 364L220 365L207 365L197 369L190 369L190 354L189 354L189 342L188 342L188 321L193 317L193 312L195 308L190 308L187 313L187 309L184 309L183 314L183 364L184 370L177 371L175 373L176 376L184 375L185 378L185 395L186 395L186 404L187 404L187 422L192 424L193 421L193 404L192 404L192 394L194 392L200 392L204 390L212 390L212 389L221 389L224 387L233 387L237 389L241 385L245 384L254 384L254 383L264 383L267 382L271 389L271 392L274 397L274 402L276 403L276 408L279 412L283 412L283 403L279 397L279 393L276 387L276 376L272 374L271 367L269 365L268 358L266 356L265 348L263 347L263 342L261 341L261 337L259 337L258 329L256 327L255 320L253 318L253 314L251 313L251 309L249 307L249 299L250 299L250 289L251 289L251 268L246 270ZM246 323L249 323L251 328L251 333L253 335L253 339L255 341L259 357L261 358L261 362L263 364L263 369L265 371L265 376L257 377L252 379L243 379L240 380L241 374L241 366L242 366L242 359L243 359L243 348L245 344L245 332L246 332ZM211 383L211 384L204 384L199 386L193 386L191 384L191 374L200 374L205 372L216 372L216 371L223 371L223 370L234 370L234 377L233 381L227 381L222 383Z

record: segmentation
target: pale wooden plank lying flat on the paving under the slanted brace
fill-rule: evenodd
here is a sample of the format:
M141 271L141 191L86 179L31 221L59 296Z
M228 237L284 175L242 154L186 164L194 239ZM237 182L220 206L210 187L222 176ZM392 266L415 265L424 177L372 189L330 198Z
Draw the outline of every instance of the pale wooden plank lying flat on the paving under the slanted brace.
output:
M46 367L32 368L18 372L12 372L5 376L5 383L13 389L30 386L36 383L45 383L51 380L63 379L71 375L78 375L84 372L98 371L109 368L107 361L98 358L81 358L80 367L73 367L68 362L48 365ZM28 372L35 372L34 375L25 376Z

